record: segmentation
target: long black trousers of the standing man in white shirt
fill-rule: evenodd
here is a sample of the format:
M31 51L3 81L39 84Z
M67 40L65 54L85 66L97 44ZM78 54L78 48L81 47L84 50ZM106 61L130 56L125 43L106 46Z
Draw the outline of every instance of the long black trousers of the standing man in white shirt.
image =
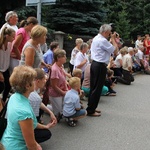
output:
M106 79L106 72L106 64L92 61L90 68L90 94L87 107L88 114L93 114L98 106Z

